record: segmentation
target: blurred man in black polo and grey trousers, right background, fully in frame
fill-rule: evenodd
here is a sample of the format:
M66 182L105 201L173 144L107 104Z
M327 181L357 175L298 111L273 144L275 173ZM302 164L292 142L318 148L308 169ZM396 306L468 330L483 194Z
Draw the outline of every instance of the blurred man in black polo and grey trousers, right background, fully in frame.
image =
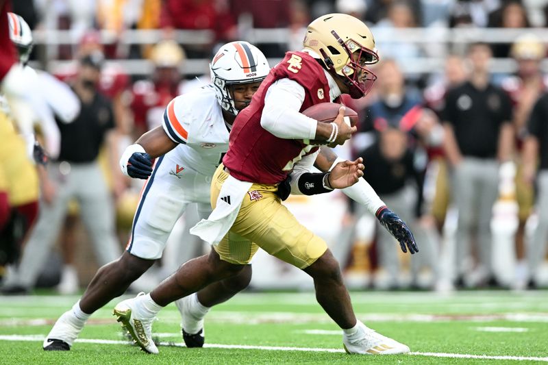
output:
M453 197L458 208L456 232L457 285L470 273L473 228L477 228L477 273L483 280L493 275L490 220L498 196L498 163L508 161L512 150L512 105L503 90L490 83L490 47L469 47L469 81L445 97L445 153L453 168Z

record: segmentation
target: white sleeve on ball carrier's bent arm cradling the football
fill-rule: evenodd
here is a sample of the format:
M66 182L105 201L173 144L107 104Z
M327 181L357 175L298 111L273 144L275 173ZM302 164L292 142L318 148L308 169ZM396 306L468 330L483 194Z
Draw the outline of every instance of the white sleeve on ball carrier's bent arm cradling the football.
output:
M285 139L316 138L318 122L299 113L305 91L297 81L280 79L266 90L261 126L276 137Z

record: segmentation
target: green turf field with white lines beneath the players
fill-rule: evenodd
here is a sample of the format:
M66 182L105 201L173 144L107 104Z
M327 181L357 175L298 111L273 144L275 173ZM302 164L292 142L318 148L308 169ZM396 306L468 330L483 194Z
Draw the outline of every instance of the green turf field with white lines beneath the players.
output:
M516 364L548 362L548 292L353 292L360 319L408 344L408 355L347 355L340 330L312 293L242 293L206 319L207 348L181 347L179 312L154 324L164 346L129 345L112 301L95 313L73 349L42 351L55 319L77 297L0 297L0 364Z

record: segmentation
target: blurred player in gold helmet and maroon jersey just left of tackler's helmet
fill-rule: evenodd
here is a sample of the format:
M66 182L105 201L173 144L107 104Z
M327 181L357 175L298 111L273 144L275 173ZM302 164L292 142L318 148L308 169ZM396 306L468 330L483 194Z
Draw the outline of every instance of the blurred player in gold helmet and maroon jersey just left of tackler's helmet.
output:
M130 103L135 137L162 123L167 104L179 95L182 75L179 67L186 59L185 53L173 40L159 42L151 51L154 73L151 79L136 81Z

